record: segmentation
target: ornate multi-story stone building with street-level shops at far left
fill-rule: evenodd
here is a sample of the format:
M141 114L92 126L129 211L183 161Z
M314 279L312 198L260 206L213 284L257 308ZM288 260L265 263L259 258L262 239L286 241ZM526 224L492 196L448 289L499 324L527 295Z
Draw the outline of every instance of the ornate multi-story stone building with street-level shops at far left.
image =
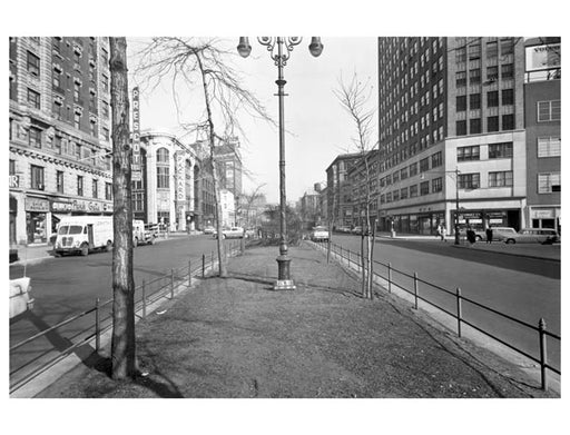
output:
M10 38L10 244L112 214L107 38Z

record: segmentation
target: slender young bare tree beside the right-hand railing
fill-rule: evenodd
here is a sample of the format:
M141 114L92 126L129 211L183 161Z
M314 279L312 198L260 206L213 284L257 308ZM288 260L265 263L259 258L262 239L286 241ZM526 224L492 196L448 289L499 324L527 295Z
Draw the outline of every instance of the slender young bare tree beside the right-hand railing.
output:
M360 185L364 184L364 198L361 205L364 208L365 221L362 225L361 234L361 258L362 258L362 296L372 298L373 283L373 244L375 231L371 229L370 209L372 201L376 200L372 195L372 184L374 182L374 174L372 170L371 158L375 144L372 142L372 122L374 120L375 109L371 108L372 87L370 82L358 80L356 72L350 82L345 82L341 76L338 79L338 88L334 93L341 106L345 109L354 123L356 136L352 139L361 155L356 167L364 166L364 170L360 177Z

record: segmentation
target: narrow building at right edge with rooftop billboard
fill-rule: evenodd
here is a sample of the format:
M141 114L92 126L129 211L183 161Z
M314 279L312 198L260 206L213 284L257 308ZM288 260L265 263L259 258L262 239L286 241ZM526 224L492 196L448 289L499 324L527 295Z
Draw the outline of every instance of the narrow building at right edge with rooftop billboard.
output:
M532 38L525 41L524 47L524 215L530 227L557 228L560 231L560 38Z

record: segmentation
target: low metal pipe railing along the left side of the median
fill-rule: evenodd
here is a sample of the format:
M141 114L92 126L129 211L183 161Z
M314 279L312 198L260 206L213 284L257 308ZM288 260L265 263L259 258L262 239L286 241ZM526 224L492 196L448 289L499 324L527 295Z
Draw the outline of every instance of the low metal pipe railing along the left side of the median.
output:
M226 254L227 256L234 256L242 250L240 246L236 243L227 243L226 245ZM139 286L135 287L135 315L141 318L147 316L148 306L158 301L164 297L173 298L175 296L175 288L181 284L188 283L188 287L191 285L191 279L195 276L205 277L208 270L213 270L217 265L217 260L214 257L214 251L210 253L209 261L206 263L206 256L202 255L202 264L199 264L199 256L194 260L190 257L188 259L187 266L181 266L178 268L173 268L169 273L165 273L163 276L156 277L151 280L142 279ZM199 265L193 269L193 265ZM13 384L10 384L10 393L20 388L22 385L27 384L35 377L39 376L41 373L46 372L62 358L71 354L79 346L88 344L90 340L95 338L95 349L100 350L101 346L101 335L104 335L107 330L112 327L112 298L100 301L99 298L95 300L95 306L92 308L86 309L81 313L78 313L51 327L45 329L29 338L26 338L13 346L10 347L10 353L26 346L32 342L38 342L39 339L46 339L46 337L50 334L56 333L58 329L61 329L65 326L68 326L73 323L80 323L81 320L88 323L87 327L81 328L79 332L73 330L72 335L69 337L60 337L61 340L66 340L69 344L63 349L55 349L53 347L49 349L39 350L40 355L36 355L33 358L28 359L23 364L20 364L17 368L10 370L10 377L22 372L24 368L29 367L32 363L38 362L42 358L47 358L50 354L56 353L57 355L51 356L48 360L43 360L39 367L35 367L32 370L27 373L22 378L18 379ZM140 315L138 314L140 313ZM94 319L89 320L88 318L92 316ZM90 323L92 322L92 323ZM69 332L68 332L69 333ZM31 354L31 353L30 353Z

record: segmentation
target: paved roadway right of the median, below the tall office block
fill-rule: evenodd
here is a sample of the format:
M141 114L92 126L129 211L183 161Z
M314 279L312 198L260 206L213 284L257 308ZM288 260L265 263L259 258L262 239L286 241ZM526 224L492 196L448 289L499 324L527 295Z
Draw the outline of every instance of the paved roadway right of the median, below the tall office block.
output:
M334 241L345 249L360 250L360 237L335 235ZM476 245L475 245L476 246ZM510 248L508 246L507 248ZM538 249L559 247L539 246ZM560 263L552 259L538 259L483 251L475 248L455 247L452 241L380 239L376 243L374 259L441 286L450 291L461 288L462 295L485 306L492 307L514 318L538 326L543 317L548 329L560 334ZM386 276L386 268L375 266L375 271ZM409 289L412 279L393 273L393 280ZM455 312L455 298L420 286L422 295L438 301L448 310ZM512 322L464 304L463 314L479 320L490 330L509 342L521 346L533 355L538 354L538 334L519 327ZM552 343L551 343L552 342ZM560 367L560 348L549 340L549 356Z

